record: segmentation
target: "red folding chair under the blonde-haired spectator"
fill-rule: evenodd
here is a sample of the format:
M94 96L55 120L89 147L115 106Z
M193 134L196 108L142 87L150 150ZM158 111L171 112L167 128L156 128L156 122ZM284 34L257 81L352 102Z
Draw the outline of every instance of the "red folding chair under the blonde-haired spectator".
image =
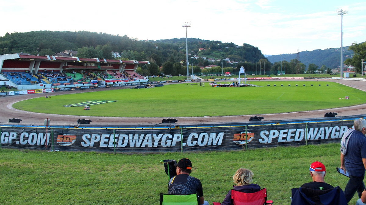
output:
M254 193L239 192L232 189L231 203L234 205L272 205L273 201L267 201L266 188ZM213 202L213 205L221 205L221 203Z

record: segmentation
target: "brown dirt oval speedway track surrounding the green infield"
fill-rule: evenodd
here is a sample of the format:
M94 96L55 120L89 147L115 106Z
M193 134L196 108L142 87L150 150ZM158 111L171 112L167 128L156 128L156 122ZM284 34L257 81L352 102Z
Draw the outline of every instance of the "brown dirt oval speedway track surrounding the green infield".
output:
M276 80L275 80L276 81ZM278 80L277 80L278 81ZM296 80L298 81L298 80ZM343 85L350 86L359 90L366 92L366 82L365 81L352 81L352 80L306 80L306 81L332 81L338 82ZM253 81L251 81L253 82ZM93 91L100 91L100 89L93 89ZM54 92L54 93L42 93L44 96L54 96L60 94L70 94L85 92L81 91L64 91L64 92ZM167 118L174 118L178 120L177 124L206 124L206 123L225 123L225 122L246 122L249 117L262 116L264 120L288 120L288 119L306 119L314 117L324 117L327 112L336 112L339 116L350 116L350 115L361 115L366 114L366 104L355 105L351 107L344 108L334 108L326 110L316 110L316 111L303 111L303 112L292 112L292 113L277 113L277 114L265 114L257 113L255 115L240 115L240 116L218 116L218 117L174 117L167 116L162 117L90 117L90 116L72 116L72 115L55 115L55 114L45 114L45 113L34 113L28 111L21 111L12 108L12 104L18 101L27 100L34 97L40 97L42 94L27 94L19 96L7 96L1 97L1 107L0 107L0 124L9 124L8 120L10 118L22 119L21 123L11 123L11 124L24 124L24 125L43 125L45 119L50 120L50 125L75 125L78 119L90 119L92 122L90 125L143 125L143 124L159 124L161 120ZM366 93L365 93L366 94ZM344 97L344 96L340 96Z

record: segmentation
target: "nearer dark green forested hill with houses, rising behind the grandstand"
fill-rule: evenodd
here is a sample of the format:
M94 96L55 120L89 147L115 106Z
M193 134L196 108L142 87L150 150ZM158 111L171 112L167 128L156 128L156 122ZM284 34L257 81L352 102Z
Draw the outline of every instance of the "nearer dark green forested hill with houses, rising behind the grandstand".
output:
M205 50L199 51L199 48ZM186 39L145 41L130 39L128 36L111 35L89 31L31 31L14 32L0 37L0 54L29 53L33 55L53 55L64 50L79 51L79 55L90 58L113 58L111 52L123 53L122 58L138 61L152 61L158 66L164 62L185 61ZM81 51L81 52L80 52ZM98 52L100 51L100 52ZM222 43L201 39L188 39L188 53L207 58L232 61L259 61L264 58L254 46ZM220 63L220 62L219 62ZM227 63L224 62L224 66ZM215 64L205 59L194 59L194 65Z

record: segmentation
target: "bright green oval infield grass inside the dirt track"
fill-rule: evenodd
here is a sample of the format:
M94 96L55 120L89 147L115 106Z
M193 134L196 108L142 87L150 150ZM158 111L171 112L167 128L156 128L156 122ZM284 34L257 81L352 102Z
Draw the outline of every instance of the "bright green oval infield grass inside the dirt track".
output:
M64 115L191 117L284 113L366 103L365 92L335 82L251 81L251 83L261 87L214 88L209 82L204 82L205 86L199 86L199 83L173 84L151 89L103 90L63 94L51 98L42 96L17 102L13 107L32 112ZM326 86L327 84L329 86ZM350 99L339 99L345 96L349 96ZM91 105L90 110L83 110L84 107L64 107L64 105L102 100L116 102Z

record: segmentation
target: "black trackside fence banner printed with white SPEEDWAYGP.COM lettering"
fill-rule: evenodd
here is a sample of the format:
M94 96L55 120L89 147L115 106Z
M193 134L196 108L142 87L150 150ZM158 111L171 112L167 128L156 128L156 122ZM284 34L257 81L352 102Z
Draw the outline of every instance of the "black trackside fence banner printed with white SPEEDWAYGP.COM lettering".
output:
M366 115L217 124L101 127L0 126L2 148L51 151L185 152L340 142Z

